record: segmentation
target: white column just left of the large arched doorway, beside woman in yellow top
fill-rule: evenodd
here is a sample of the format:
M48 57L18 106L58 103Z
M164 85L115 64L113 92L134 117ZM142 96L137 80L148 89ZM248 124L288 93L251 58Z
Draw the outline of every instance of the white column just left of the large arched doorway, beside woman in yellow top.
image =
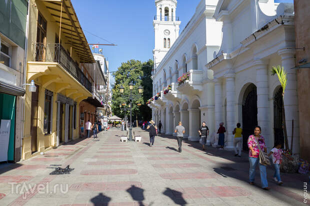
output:
M235 84L234 84L234 73L227 73L224 75L226 79L226 134L225 139L227 139L225 149L233 149L233 134L232 130L235 127Z

